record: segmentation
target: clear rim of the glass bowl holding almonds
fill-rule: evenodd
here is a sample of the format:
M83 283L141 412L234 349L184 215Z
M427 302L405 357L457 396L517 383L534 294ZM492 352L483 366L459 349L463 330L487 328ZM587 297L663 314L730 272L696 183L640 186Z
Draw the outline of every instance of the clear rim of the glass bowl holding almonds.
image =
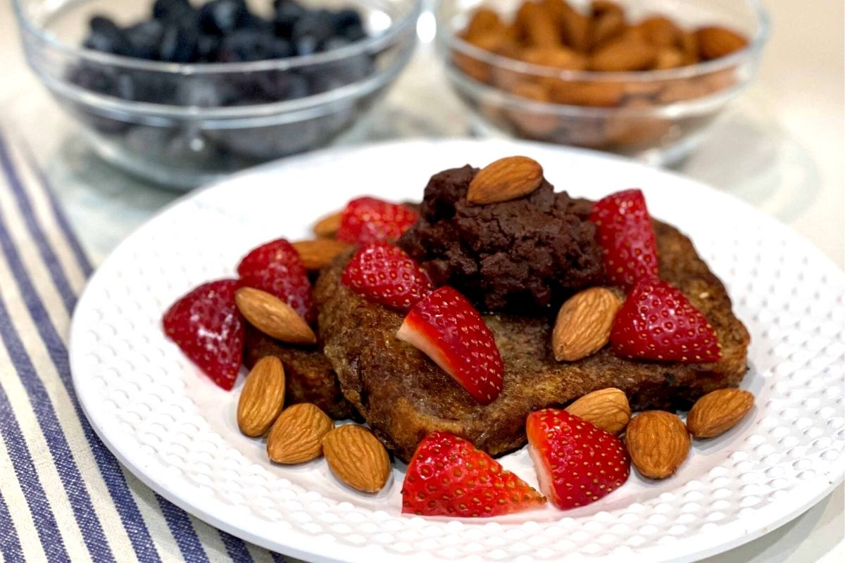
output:
M17 1L17 0L16 0ZM437 41L441 48L448 51L458 51L467 57L483 62L493 68L501 68L513 73L520 73L526 76L560 78L562 80L589 81L589 82L652 82L671 80L674 78L695 78L704 74L716 73L724 68L732 68L743 62L753 61L760 55L763 46L768 40L771 22L769 13L763 7L761 0L744 0L751 11L756 15L758 24L757 33L749 42L749 45L740 51L736 51L728 57L713 59L712 61L699 62L694 65L679 68L668 68L663 70L645 70L636 72L597 72L586 70L564 70L552 67L543 67L522 62L514 58L504 57L491 51L474 46L463 41L455 35L451 29L450 22L442 17L442 8L445 2L450 0L435 0L433 11L437 21Z

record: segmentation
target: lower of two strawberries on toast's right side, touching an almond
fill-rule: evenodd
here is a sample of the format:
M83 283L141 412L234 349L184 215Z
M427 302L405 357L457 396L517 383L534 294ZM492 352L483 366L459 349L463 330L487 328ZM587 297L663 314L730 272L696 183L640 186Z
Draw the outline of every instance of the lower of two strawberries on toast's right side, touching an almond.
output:
M689 363L722 357L716 332L701 311L671 284L641 279L616 314L613 353L629 358Z

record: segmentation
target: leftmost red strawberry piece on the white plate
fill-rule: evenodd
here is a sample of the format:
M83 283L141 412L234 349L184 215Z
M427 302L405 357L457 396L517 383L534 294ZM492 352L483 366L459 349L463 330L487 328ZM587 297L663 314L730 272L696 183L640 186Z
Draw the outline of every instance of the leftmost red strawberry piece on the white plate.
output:
M164 314L164 333L218 386L232 389L243 357L237 279L202 284Z

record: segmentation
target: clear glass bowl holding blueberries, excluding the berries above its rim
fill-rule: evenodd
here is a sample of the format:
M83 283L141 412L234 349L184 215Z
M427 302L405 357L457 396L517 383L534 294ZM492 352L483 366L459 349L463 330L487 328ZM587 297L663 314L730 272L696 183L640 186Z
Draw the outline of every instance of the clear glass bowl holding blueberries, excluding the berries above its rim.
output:
M369 35L284 59L146 61L81 45L93 15L131 24L149 17L152 0L14 0L30 67L97 154L183 188L329 143L372 108L412 55L422 0L300 3L356 8ZM270 0L249 4L270 10Z

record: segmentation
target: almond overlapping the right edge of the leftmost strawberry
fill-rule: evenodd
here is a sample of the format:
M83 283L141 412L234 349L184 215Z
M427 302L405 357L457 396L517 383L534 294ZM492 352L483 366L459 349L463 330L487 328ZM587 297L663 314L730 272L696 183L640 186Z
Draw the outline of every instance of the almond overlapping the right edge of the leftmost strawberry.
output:
M235 292L238 311L262 333L291 344L314 344L308 322L285 301L266 291L242 287Z

